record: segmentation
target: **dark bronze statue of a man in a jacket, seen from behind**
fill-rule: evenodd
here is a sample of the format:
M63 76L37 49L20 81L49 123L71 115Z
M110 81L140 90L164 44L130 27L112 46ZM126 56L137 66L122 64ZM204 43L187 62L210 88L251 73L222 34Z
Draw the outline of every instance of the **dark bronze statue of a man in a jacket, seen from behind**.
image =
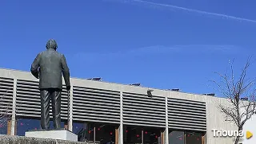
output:
M62 75L66 83L66 90L70 91L70 69L66 58L58 53L58 45L50 39L46 44L46 51L39 53L31 64L31 73L39 79L41 97L41 127L50 128L50 101L54 119L54 128L61 128L61 93Z

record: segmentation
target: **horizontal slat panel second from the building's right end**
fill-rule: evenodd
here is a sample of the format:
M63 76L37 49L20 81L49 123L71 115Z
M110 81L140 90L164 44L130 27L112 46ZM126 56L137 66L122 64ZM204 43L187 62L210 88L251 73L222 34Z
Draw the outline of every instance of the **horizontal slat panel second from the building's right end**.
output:
M165 127L165 98L124 92L123 123L137 126Z

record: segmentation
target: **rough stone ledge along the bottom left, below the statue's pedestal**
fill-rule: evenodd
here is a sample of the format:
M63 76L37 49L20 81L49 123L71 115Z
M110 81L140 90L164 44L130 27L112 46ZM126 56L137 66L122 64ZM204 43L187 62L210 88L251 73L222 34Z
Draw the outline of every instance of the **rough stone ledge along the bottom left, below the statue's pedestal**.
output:
M1 135L1 144L92 144L88 142L70 142L50 138L29 138L23 136Z

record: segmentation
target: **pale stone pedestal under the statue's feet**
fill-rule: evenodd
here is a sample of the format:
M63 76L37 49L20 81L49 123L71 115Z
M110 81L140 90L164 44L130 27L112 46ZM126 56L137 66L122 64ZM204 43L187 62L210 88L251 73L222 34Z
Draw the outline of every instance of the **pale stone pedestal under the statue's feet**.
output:
M65 130L65 129L30 130L30 131L26 131L25 136L32 137L32 138L52 138L52 139L61 139L61 140L78 142L78 135L73 134L71 131Z

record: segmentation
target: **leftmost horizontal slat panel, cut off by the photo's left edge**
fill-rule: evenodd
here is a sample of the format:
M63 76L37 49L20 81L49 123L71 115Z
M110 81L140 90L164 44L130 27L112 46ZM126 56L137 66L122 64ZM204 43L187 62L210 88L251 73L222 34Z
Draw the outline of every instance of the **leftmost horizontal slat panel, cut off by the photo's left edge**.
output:
M0 115L11 115L13 106L14 80L0 77Z

